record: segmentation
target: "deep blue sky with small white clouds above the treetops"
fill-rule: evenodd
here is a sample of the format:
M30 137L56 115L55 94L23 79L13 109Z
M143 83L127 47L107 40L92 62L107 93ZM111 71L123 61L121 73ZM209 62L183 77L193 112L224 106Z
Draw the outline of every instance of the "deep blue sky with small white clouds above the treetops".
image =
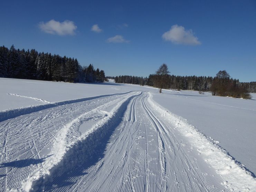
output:
M255 0L2 1L0 12L0 45L74 57L107 76L145 77L165 63L174 75L256 81Z

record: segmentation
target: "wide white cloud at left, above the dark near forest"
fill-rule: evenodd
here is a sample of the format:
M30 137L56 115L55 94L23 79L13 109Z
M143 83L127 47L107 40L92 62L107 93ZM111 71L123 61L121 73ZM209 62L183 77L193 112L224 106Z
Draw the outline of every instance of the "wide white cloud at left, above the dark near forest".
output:
M54 19L44 23L39 23L39 28L51 34L57 35L75 35L75 30L77 26L73 21L65 20L63 22L55 21Z

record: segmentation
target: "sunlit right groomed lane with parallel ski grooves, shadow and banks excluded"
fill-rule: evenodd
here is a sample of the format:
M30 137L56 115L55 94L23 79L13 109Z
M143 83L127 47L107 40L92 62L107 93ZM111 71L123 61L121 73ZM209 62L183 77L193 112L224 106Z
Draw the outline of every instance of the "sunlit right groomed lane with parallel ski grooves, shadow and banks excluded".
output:
M105 157L83 170L87 174L65 180L72 184L51 191L228 191L197 149L175 127L169 128L146 98L143 94L131 99L108 140Z

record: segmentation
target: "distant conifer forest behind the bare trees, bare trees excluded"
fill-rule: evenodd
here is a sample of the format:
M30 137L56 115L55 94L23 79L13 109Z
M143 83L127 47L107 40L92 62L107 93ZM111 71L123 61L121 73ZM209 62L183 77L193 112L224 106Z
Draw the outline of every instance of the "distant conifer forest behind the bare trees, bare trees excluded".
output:
M149 77L138 77L129 75L120 75L116 77L107 77L114 79L116 83L149 85L158 87L157 74L151 74ZM211 91L212 83L216 77L206 76L176 76L168 75L164 88L183 89L183 90L196 90L196 91ZM239 79L230 78L230 83L237 85L237 87L244 87L250 93L256 93L256 82L240 83Z

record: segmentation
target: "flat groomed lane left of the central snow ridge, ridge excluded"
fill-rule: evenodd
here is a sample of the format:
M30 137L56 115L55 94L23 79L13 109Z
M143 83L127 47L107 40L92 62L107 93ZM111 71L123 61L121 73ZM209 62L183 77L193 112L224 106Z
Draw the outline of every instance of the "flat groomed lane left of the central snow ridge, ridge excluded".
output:
M45 109L44 111L39 111L38 113L27 114L25 116L17 117L16 119L0 122L0 141L5 141L5 143L0 146L0 151L2 152L0 162L0 175L2 175L0 177L1 189L4 187L9 189L20 188L20 181L28 177L31 172L31 166L35 168L40 166L44 161L44 158L41 159L40 157L47 157L51 152L54 141L56 141L56 135L60 132L63 126L74 117L74 115L79 116L93 111L95 105L103 106L107 103L118 102L118 98L124 97L123 95L125 96L125 94L117 94L102 97L95 101L92 99L84 102L57 106L51 109ZM74 110L74 108L77 108L78 106L79 110ZM65 118L65 115L68 116L69 113L73 113L72 117ZM44 127L43 129L42 126ZM28 134L26 134L26 132ZM5 137L4 134L7 133L8 137L12 138L11 140L8 140L8 142L6 139L2 139ZM31 135L29 140L27 137L28 135ZM33 142L31 138L36 139ZM39 145L40 143L44 143L44 145ZM9 150L8 146L11 148L15 147L15 150ZM7 155L8 159L6 159ZM17 160L22 161L17 162Z

